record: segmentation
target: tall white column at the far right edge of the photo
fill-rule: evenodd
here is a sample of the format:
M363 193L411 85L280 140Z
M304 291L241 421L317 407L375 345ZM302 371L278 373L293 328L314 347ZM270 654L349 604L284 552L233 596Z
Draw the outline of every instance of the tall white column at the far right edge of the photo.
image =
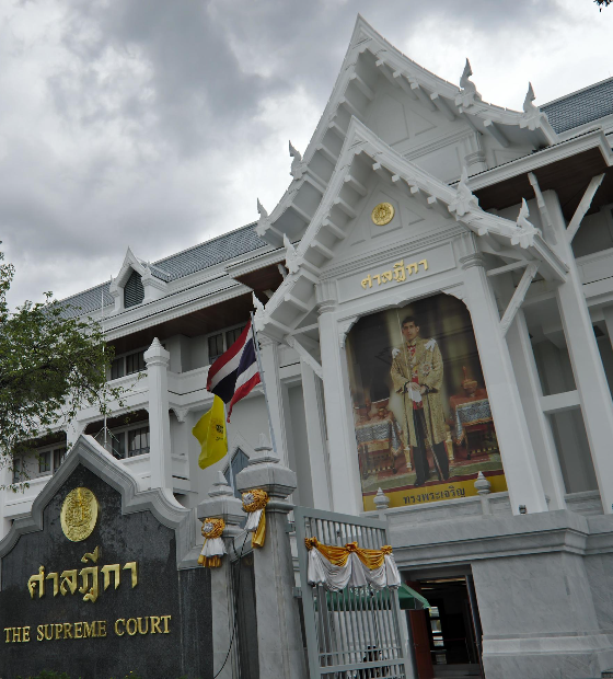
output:
M604 514L613 514L613 402L558 197L547 191L544 198L556 231L558 254L569 267L566 281L556 290L566 346L581 401L602 507Z

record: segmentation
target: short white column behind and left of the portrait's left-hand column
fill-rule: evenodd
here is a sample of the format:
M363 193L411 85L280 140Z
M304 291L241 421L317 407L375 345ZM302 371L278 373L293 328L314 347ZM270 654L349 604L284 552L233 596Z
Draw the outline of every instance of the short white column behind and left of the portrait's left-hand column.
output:
M309 463L313 487L313 506L315 509L332 508L329 487L329 469L325 439L325 423L321 393L321 380L311 366L300 361L302 372L302 395L304 398L304 416L307 419L307 439L309 441Z

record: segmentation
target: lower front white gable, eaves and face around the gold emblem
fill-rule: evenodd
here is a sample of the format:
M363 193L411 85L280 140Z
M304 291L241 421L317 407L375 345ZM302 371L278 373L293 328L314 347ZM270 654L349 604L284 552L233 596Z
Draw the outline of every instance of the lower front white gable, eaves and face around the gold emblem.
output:
M374 225L371 218L380 203L394 209L393 219L384 226ZM466 172L451 187L352 118L336 170L304 235L297 245L285 237L289 275L265 309L258 310L257 329L266 327L266 334L281 340L310 321L315 285L331 269L337 272L345 263L363 268L466 230L499 256L537 261L546 279L565 275L566 266L524 210L518 222L485 212L467 186Z

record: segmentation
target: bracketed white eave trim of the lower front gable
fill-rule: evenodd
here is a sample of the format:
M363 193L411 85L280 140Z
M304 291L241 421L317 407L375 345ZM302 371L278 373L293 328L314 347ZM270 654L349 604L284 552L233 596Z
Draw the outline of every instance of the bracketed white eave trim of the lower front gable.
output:
M362 166L370 163L372 172L402 189L407 198L448 219L455 219L498 250L506 248L517 252L519 249L523 265L537 262L544 278L565 279L568 267L543 240L539 229L528 221L525 202L516 222L486 212L472 194L465 171L456 187L449 186L400 156L362 123L351 118L336 170L304 235L298 245L287 235L284 238L289 274L266 309L256 317L258 330L267 335L285 341L312 319L321 269L335 257L335 248L347 237L358 215L354 206L366 194L351 173L354 162Z

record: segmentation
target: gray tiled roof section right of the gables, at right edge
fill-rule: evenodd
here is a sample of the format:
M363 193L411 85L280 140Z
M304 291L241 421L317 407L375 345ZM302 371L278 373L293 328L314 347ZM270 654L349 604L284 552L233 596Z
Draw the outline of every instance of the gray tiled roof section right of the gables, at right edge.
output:
M613 78L541 106L556 133L613 114Z

